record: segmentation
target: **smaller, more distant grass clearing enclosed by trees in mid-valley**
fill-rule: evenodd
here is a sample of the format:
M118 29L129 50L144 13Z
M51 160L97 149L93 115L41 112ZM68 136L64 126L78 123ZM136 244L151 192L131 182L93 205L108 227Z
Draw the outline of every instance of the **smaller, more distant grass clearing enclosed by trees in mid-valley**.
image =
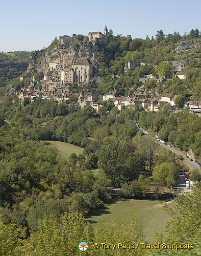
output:
M65 143L61 141L43 140L42 142L45 143L45 145L47 146L56 147L59 153L63 157L67 157L67 158L72 153L76 153L76 155L78 156L79 154L82 154L84 150L82 147L74 146L70 143Z

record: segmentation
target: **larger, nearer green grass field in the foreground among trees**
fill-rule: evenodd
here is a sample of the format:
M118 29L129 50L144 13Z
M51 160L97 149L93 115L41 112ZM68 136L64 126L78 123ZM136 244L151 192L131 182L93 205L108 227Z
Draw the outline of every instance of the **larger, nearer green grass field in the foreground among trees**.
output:
M110 223L115 219L118 223L124 219L129 223L131 213L136 215L138 225L147 241L155 241L155 231L163 232L167 221L170 220L168 213L163 209L163 201L150 200L122 200L112 204L106 204L100 209L97 215L91 216L88 220L92 226L101 226L103 223ZM168 203L172 206L173 203Z

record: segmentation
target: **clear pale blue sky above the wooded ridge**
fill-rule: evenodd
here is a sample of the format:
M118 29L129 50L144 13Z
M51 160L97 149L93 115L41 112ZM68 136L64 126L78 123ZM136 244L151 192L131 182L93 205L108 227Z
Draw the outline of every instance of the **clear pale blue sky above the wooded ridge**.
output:
M57 36L102 31L132 38L201 30L201 0L0 0L0 51L33 51Z

